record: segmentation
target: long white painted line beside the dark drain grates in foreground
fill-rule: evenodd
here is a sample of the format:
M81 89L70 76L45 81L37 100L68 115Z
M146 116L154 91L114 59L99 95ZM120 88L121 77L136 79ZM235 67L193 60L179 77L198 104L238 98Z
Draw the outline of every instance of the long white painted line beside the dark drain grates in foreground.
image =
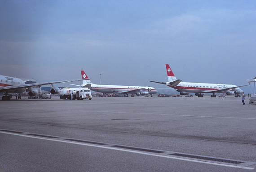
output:
M242 169L247 169L247 170L254 169L254 168L251 168L251 167L242 167L242 166L237 166L237 165L220 164L220 163L206 162L206 161L200 161L200 160L194 160L194 159L178 158L178 157L166 156L166 155L156 155L156 154L145 153L145 152L141 152L141 151L126 150L126 149L116 148L116 147L99 146L99 145L93 145L93 144L88 144L88 143L76 143L76 142L71 142L71 141L67 141L67 140L59 140L59 139L52 139L52 138L41 138L41 137L35 137L35 136L31 136L31 135L26 135L26 134L16 134L16 133L4 132L4 131L0 131L0 133L12 134L12 135L29 137L29 138L37 138L37 139L49 140L49 141L55 141L55 142L62 142L62 143L71 143L71 144L77 144L77 145L83 145L83 146L89 146L89 147L99 147L99 148L111 149L111 150L116 150L116 151L125 151L125 152L137 153L137 154L142 154L142 155L157 156L157 157L162 157L162 158L177 159L177 160L190 161L190 162L202 163L202 164L211 164L211 165L231 167L231 168L242 168Z

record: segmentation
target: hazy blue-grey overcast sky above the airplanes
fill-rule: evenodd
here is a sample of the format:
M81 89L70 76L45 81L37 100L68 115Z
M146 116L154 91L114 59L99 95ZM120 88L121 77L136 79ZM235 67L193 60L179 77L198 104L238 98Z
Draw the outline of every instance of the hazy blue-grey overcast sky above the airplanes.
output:
M2 0L0 74L39 82L247 84L256 76L255 0ZM242 88L250 90L250 87Z

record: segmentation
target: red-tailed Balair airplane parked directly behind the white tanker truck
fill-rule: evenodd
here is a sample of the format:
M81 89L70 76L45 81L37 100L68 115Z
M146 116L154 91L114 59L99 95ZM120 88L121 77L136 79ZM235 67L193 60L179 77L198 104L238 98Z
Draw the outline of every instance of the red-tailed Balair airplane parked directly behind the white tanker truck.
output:
M148 95L150 94L151 97L153 94L156 94L157 91L153 87L139 87L139 86L123 86L123 85L100 85L100 84L93 84L88 76L86 76L84 71L81 71L81 75L83 79L83 85L81 87L87 87L95 92L102 92L102 93L117 93L117 94L136 94L137 96Z

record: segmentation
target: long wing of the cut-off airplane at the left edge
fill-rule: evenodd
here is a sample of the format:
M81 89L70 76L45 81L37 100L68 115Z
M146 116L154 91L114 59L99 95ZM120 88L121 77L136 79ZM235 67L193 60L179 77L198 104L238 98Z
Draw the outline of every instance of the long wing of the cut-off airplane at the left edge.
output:
M74 81L80 81L80 80L88 80L88 78L87 79L79 79L79 80L62 80L62 81L55 81L55 82L44 82L44 83L34 83L34 84L25 84L25 85L13 85L13 86L7 86L7 87L0 88L0 91L20 89L20 88L28 88L28 87L41 86L41 85L49 85L49 84L74 82Z

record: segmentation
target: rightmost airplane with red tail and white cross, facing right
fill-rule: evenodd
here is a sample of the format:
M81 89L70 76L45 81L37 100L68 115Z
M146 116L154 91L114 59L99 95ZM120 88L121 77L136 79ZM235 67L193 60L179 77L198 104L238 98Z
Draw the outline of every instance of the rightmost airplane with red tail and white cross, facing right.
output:
M191 83L191 82L181 82L177 80L174 76L172 69L168 64L166 66L168 82L156 82L150 81L158 84L165 84L171 88L174 88L180 95L188 95L190 92L194 92L195 96L203 97L204 93L212 93L211 97L216 97L215 93L225 93L228 96L238 95L243 93L239 87L244 87L247 85L236 86L231 84L207 84L207 83Z

